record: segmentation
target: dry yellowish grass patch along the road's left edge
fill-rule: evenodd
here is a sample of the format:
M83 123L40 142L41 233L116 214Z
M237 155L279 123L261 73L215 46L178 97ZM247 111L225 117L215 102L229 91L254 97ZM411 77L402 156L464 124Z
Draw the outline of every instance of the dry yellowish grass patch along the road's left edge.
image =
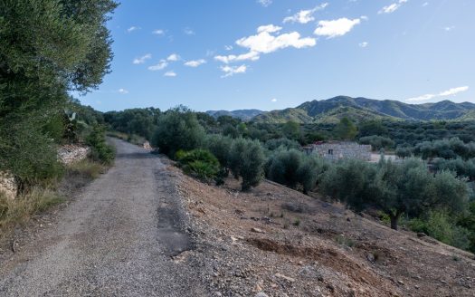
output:
M27 194L14 199L7 198L0 193L0 230L1 234L14 225L26 222L31 216L56 206L64 201L50 188L33 187Z

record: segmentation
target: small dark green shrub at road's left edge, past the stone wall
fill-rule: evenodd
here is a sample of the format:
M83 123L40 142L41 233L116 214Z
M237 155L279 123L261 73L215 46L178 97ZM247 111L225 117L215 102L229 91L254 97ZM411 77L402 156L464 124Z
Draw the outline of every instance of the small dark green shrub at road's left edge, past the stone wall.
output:
M106 142L106 133L103 126L94 126L86 139L86 143L91 149L90 158L105 165L112 164L115 151Z

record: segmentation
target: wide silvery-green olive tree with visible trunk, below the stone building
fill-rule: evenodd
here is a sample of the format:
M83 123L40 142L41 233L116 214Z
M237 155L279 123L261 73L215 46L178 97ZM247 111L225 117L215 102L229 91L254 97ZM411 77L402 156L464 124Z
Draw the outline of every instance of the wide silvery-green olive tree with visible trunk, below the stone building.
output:
M429 209L460 212L469 191L464 180L451 172L432 175L417 159L402 164L381 160L377 166L358 160L343 160L325 172L321 189L356 211L375 207L391 219L391 226L404 213L416 217Z

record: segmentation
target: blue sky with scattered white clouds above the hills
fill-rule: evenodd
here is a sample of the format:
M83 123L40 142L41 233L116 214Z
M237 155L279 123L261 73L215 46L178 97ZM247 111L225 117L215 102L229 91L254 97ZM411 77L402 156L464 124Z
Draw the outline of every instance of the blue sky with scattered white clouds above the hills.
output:
M475 102L473 0L128 0L97 110Z

